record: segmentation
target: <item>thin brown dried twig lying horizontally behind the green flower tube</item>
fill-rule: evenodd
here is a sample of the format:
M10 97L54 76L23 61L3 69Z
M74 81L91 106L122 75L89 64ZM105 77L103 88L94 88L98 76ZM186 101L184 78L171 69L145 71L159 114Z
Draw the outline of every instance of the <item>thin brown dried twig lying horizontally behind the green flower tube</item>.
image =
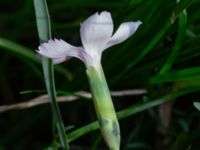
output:
M122 97L122 96L142 95L146 93L147 91L145 89L133 89L133 90L113 91L111 92L111 95L116 96L116 97ZM58 102L71 102L71 101L79 99L80 97L90 99L92 96L89 92L79 91L79 92L76 92L74 95L70 95L70 96L58 96L57 100ZM30 99L27 102L0 106L0 113L10 111L10 110L27 109L30 107L34 107L34 106L38 106L38 105L42 105L46 103L49 103L48 95L41 95L36 98Z

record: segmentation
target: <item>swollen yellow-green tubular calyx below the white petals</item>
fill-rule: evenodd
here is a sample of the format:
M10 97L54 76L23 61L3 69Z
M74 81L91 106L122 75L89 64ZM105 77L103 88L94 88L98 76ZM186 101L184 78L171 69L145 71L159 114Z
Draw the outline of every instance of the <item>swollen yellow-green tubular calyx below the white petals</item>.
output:
M110 150L119 150L120 129L101 65L86 70L103 138Z

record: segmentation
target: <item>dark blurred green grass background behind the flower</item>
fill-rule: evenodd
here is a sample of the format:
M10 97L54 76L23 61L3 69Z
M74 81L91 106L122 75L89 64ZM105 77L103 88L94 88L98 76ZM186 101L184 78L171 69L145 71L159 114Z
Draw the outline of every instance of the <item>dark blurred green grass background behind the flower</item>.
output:
M124 150L200 149L199 0L47 0L53 37L80 45L79 27L97 11L110 11L115 29L141 20L136 34L104 52L110 90L147 93L114 97ZM46 93L32 0L0 1L0 108ZM71 59L55 68L58 95L89 91L84 65ZM26 92L23 92L26 91ZM28 91L28 92L27 92ZM72 149L106 149L92 101L59 103ZM53 149L49 104L0 113L0 150ZM91 132L92 131L92 132ZM88 133L87 133L88 132ZM86 134L87 133L87 134ZM50 147L49 147L50 146Z

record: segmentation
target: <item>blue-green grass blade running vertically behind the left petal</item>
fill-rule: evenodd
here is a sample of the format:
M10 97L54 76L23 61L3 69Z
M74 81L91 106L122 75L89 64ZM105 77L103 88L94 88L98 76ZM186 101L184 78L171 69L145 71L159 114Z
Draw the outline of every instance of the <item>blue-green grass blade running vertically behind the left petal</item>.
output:
M50 17L46 0L34 0L36 13L36 21L40 43L51 39ZM56 126L63 149L69 150L68 140L66 138L65 127L61 117L60 109L56 101L56 89L54 81L54 67L50 59L43 57L42 66L45 77L45 84L49 95L49 101L52 108L53 118L56 121Z

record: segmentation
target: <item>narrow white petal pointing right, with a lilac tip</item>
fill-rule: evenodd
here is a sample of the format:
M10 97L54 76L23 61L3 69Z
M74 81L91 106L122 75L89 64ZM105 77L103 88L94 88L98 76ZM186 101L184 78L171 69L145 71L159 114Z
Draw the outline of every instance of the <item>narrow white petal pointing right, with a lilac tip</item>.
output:
M131 35L133 35L136 32L136 30L141 24L141 21L122 23L115 32L115 34L112 36L110 41L107 43L107 48L119 44L128 39Z

